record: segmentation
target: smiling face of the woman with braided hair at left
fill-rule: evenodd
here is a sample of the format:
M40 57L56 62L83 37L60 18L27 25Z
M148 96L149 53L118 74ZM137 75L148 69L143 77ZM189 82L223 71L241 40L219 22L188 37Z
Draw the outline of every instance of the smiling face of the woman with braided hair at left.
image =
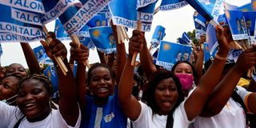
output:
M50 111L50 94L37 79L28 79L22 83L16 101L28 119L43 117Z

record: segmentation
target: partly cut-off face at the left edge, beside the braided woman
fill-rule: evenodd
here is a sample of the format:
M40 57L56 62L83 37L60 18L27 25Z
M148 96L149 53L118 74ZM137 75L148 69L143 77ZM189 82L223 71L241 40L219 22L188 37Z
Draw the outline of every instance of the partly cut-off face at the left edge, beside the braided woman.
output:
M18 78L9 76L0 82L0 100L13 97L18 90Z

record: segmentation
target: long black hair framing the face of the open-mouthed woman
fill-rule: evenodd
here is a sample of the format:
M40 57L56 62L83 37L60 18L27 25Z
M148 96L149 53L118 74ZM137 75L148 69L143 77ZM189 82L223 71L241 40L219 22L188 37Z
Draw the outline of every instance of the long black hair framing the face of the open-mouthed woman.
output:
M182 92L182 84L179 82L178 78L171 71L165 70L165 69L160 69L160 70L157 70L153 74L152 78L150 79L150 82L148 83L148 88L146 90L146 102L147 102L147 105L150 106L150 108L152 109L153 114L156 114L156 112L159 108L157 106L156 99L154 98L154 92L156 90L156 87L158 86L158 83L166 78L174 79L174 82L175 82L175 85L176 85L177 91L178 91L178 100L168 114L168 117L170 117L170 116L173 116L172 114L173 114L174 110L180 105L180 103L182 101L184 101L184 94ZM168 120L167 120L167 122L168 122Z

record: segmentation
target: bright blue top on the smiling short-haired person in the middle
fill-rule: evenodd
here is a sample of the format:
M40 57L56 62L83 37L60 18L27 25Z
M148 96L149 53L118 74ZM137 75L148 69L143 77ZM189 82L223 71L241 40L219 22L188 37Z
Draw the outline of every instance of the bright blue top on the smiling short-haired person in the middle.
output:
M101 121L101 128L126 128L127 118L122 113L122 109L118 102L118 95L115 93L109 97L109 101L103 108L103 115ZM82 112L81 128L93 128L96 118L98 105L94 103L94 98L86 96L86 110ZM110 114L114 114L114 118L110 122L106 122L104 118L110 117Z

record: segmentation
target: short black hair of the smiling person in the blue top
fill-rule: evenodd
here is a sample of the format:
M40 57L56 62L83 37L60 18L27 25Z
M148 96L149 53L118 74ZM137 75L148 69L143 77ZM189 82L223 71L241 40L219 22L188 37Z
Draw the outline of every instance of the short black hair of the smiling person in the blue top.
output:
M102 63L96 63L96 64L94 64L93 66L90 66L90 68L89 68L89 70L88 70L88 73L87 73L87 83L88 84L90 84L90 78L91 78L91 72L94 70L94 69L96 69L96 68L98 68L98 67L104 67L104 68L106 68L107 70L109 70L110 71L110 76L111 76L111 79L113 79L114 78L114 73L113 73L113 71L110 69L110 66L107 66L106 64L102 64Z

